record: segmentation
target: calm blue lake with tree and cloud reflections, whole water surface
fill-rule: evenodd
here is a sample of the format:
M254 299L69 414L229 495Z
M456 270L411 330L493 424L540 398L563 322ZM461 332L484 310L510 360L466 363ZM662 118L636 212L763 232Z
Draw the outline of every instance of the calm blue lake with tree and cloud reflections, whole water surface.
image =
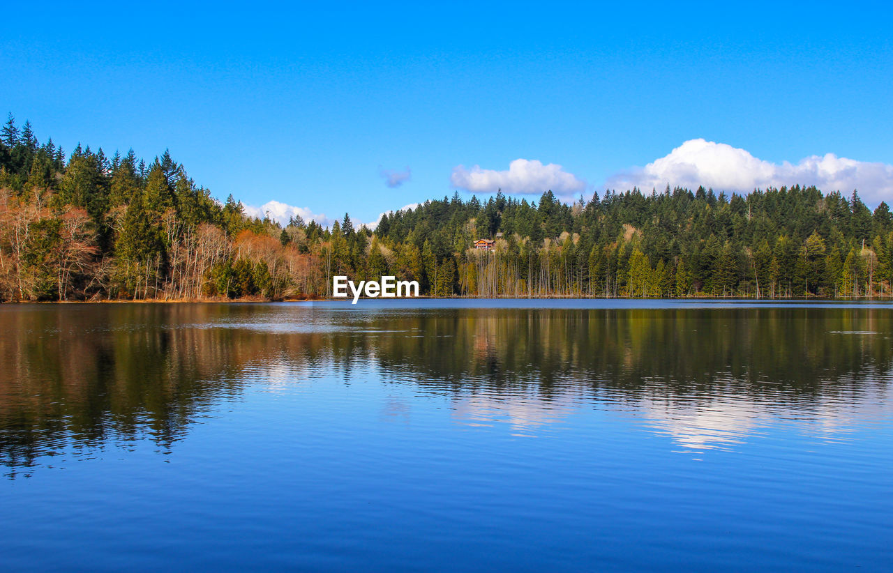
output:
M893 306L0 305L0 569L893 569Z

